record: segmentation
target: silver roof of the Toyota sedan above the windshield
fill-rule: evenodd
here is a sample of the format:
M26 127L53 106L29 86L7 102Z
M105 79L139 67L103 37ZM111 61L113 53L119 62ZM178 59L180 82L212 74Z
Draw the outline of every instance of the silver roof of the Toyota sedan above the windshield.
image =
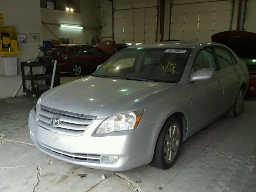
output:
M200 43L197 41L165 41L165 42L154 42L154 43L146 43L146 44L140 44L140 45L134 45L130 46L128 48L195 48L196 46L200 44L206 44L206 43Z

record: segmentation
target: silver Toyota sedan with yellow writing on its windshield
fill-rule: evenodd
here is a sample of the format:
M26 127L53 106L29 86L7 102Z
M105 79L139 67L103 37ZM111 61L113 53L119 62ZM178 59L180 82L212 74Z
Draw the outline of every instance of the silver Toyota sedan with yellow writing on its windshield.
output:
M30 138L42 152L90 168L168 169L181 142L241 113L248 80L246 64L222 44L131 46L88 78L42 94Z

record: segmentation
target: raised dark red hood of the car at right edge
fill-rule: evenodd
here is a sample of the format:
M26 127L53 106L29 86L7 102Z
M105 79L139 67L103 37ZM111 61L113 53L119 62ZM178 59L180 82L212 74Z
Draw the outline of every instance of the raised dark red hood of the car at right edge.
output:
M212 35L212 42L231 48L240 58L256 59L256 33L224 31Z

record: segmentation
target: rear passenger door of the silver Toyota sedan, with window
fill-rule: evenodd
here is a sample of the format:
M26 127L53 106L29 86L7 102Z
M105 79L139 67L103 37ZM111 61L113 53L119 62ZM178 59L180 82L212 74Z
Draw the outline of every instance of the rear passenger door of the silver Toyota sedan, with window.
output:
M224 87L222 110L226 110L234 105L239 90L240 72L238 71L237 64L234 63L234 58L232 58L231 53L227 48L214 46L214 50Z

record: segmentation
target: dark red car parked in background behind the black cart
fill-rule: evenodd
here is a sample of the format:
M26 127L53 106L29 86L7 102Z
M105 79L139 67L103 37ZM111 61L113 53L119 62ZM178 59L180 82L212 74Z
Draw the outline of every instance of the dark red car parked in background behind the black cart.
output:
M52 48L52 60L58 61L62 72L70 72L73 76L95 71L110 56L95 46L83 44L58 45Z

